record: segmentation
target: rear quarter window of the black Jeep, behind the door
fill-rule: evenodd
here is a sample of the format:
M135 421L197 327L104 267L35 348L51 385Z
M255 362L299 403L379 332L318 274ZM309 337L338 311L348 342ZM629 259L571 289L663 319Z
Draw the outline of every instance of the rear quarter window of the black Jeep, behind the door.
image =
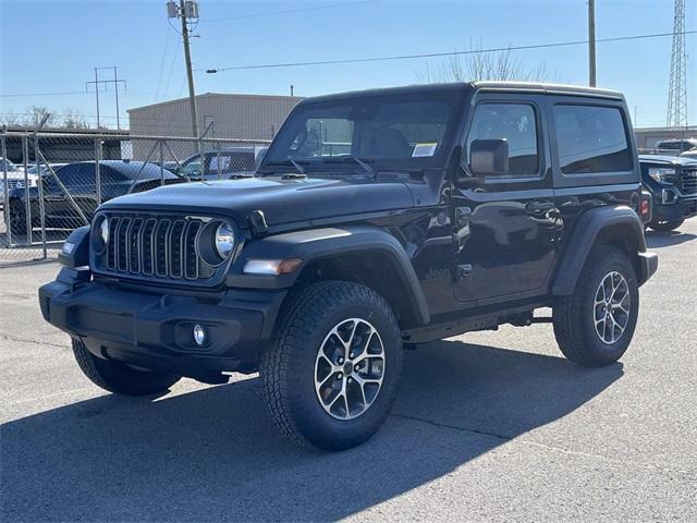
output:
M632 156L620 109L554 106L559 165L563 174L592 174L632 169Z

